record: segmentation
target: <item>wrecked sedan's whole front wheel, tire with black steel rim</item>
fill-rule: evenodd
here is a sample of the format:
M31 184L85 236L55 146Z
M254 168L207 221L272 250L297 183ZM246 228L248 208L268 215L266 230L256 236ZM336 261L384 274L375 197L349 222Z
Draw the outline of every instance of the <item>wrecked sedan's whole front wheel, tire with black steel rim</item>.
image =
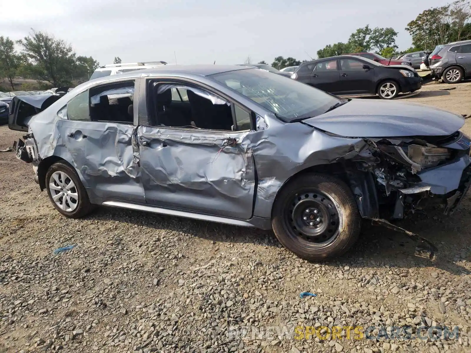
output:
M323 174L294 178L276 197L272 227L278 240L309 261L337 257L358 238L361 216L349 187Z

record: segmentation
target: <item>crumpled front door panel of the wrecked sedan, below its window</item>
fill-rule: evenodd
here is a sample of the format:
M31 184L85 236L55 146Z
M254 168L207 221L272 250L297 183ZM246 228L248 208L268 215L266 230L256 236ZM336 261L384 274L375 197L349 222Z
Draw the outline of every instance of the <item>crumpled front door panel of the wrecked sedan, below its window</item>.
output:
M255 171L251 132L138 127L146 202L250 219Z

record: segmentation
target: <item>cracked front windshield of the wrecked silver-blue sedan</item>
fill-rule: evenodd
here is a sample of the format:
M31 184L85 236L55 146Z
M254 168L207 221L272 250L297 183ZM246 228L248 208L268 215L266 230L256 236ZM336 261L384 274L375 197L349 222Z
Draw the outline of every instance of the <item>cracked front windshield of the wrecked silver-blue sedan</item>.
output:
M261 70L221 72L210 77L252 99L286 122L323 114L341 102L341 99L320 89Z

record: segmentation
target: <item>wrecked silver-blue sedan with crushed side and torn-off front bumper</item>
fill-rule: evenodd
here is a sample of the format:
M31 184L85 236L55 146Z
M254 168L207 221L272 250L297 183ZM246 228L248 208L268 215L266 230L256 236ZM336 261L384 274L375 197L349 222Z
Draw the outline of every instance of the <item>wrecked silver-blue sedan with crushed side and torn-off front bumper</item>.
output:
M16 156L65 217L105 205L273 229L311 261L347 251L367 218L433 258L389 220L427 199L449 214L470 185L461 116L255 68L165 66L42 99L15 97L9 128L27 131Z

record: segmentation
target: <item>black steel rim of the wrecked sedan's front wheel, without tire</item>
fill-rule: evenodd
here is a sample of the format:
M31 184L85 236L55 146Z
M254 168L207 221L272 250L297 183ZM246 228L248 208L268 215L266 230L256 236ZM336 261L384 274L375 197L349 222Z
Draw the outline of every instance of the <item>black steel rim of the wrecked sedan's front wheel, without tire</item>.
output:
M285 212L286 225L292 237L322 248L338 235L339 212L334 201L316 189L306 189L293 195Z

